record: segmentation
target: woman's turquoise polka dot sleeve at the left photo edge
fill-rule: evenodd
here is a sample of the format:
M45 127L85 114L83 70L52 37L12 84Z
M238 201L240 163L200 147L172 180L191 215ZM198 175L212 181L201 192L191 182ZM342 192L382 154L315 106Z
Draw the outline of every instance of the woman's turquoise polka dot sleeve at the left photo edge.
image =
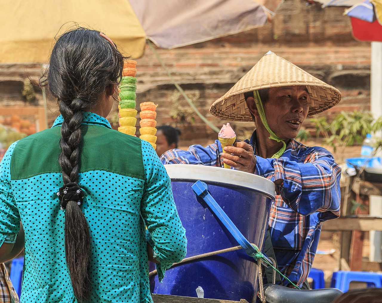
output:
M15 243L20 230L20 216L11 189L11 156L17 142L6 151L0 163L0 246Z

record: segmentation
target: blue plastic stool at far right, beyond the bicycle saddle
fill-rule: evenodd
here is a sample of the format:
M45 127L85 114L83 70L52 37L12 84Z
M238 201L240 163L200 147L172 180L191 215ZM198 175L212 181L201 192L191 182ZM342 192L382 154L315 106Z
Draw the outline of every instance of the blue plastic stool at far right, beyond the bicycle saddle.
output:
M330 287L338 288L343 292L349 290L350 282L366 282L367 287L382 287L382 274L366 271L337 271L333 272Z

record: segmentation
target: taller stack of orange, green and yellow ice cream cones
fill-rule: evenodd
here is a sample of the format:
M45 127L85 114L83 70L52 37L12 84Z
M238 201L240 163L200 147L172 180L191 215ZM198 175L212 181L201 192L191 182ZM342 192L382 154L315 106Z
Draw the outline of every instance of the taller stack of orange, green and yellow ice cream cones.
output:
M118 105L118 131L128 135L135 135L136 132L135 125L137 118L135 118L135 116L138 112L135 109L135 91L137 89L137 78L135 77L137 73L136 64L137 61L134 60L125 61L123 64L122 79L119 85L120 104Z

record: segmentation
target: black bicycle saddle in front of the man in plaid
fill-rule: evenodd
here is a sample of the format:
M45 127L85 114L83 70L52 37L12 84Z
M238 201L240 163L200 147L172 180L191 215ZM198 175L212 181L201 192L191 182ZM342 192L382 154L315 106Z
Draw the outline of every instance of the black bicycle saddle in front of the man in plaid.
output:
M294 289L277 284L264 285L264 297L267 303L332 303L342 291L337 288Z

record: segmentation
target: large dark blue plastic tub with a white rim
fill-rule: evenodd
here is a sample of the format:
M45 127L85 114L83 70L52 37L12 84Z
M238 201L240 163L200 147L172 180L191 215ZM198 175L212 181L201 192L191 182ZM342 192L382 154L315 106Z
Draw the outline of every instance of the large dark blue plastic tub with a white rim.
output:
M199 165L166 165L180 219L188 239L186 257L238 246L223 224L191 189L197 180L208 185L212 197L250 243L263 248L273 182L253 174ZM151 264L151 270L153 269ZM150 278L153 293L252 302L258 289L257 264L243 249L185 263L166 271L162 283Z

